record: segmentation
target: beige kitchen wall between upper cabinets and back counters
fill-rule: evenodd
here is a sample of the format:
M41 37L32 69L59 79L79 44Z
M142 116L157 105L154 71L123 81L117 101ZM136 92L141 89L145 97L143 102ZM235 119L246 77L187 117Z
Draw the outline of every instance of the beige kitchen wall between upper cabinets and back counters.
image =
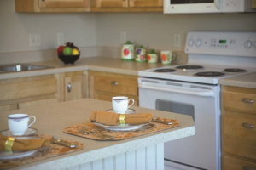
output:
M121 57L120 32L150 49L183 51L188 31L256 31L256 14L162 13L15 13L15 0L0 0L0 64L56 59L57 33L83 48L81 57ZM41 35L41 47L29 46L29 34ZM181 47L174 47L174 34ZM180 53L175 62L185 63Z

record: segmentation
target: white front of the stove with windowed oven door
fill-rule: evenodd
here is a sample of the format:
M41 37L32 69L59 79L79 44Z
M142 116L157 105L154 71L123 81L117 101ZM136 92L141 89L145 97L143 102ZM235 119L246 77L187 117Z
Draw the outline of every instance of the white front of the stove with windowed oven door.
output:
M166 169L219 169L219 87L148 78L138 82L140 107L189 115L195 121L194 136L165 144Z

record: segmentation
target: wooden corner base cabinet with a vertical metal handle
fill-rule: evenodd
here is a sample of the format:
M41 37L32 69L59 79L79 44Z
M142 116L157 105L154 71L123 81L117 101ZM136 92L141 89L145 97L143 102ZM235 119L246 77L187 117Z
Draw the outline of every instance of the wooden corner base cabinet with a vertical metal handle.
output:
M61 101L84 99L87 97L87 81L84 71L74 71L60 74Z

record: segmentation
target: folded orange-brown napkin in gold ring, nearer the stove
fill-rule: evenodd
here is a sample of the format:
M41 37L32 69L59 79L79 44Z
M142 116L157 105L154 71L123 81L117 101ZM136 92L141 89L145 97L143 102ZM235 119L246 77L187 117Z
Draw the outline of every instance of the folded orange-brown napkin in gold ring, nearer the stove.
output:
M125 124L144 124L152 121L153 113L125 114ZM90 121L105 125L119 125L119 114L108 111L93 111Z

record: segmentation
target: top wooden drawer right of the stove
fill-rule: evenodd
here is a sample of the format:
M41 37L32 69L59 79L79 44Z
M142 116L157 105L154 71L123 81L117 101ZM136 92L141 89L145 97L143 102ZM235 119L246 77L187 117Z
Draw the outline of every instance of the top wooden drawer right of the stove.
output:
M224 109L256 114L256 95L224 92Z

